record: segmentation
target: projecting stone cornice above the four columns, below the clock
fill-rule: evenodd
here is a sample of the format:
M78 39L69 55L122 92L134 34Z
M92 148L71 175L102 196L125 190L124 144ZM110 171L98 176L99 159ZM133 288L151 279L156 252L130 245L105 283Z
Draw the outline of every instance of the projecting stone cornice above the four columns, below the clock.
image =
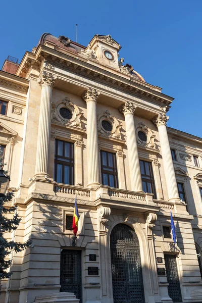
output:
M94 62L90 64L90 60L85 60L79 54L73 54L67 52L67 54L56 51L44 45L39 45L35 54L26 53L19 68L17 74L26 76L28 70L31 67L39 69L43 60L51 62L53 65L60 65L62 68L66 68L86 78L92 76L94 81L102 83L111 87L116 87L120 90L127 91L130 94L135 94L141 98L149 99L150 102L156 103L160 107L167 107L172 103L173 98L158 91L158 88L148 83L141 83L141 81L134 80L130 76L123 75L119 71L111 69L104 70L102 64L94 65ZM105 74L104 74L105 72ZM157 90L155 90L157 89ZM161 109L160 109L161 110Z

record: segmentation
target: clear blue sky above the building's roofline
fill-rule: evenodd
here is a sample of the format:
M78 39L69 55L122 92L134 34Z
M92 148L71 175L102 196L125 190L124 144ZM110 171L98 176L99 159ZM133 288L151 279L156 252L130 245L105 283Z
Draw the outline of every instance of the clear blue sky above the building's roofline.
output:
M3 1L0 65L22 59L43 32L87 45L94 34L110 34L146 82L175 98L168 126L202 137L201 0Z

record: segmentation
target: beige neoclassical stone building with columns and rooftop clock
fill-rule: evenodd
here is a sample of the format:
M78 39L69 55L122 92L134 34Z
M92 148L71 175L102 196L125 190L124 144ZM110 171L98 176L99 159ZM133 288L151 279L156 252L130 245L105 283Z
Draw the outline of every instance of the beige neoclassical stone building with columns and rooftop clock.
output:
M0 71L0 144L22 217L7 236L33 239L12 254L1 303L202 300L202 139L166 126L173 98L120 48L45 33Z

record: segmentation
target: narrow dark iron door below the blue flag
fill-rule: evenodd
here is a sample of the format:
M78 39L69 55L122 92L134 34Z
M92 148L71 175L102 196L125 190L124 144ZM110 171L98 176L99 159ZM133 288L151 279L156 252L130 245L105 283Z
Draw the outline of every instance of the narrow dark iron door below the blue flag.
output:
M173 299L173 302L182 302L176 255L164 255L164 258L166 275L169 283L168 294Z

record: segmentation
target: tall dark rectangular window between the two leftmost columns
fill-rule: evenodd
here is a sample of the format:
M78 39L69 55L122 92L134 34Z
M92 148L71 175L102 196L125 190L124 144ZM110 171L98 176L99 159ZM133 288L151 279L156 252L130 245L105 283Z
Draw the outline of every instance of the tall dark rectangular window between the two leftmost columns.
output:
M54 180L74 185L74 144L56 140Z

